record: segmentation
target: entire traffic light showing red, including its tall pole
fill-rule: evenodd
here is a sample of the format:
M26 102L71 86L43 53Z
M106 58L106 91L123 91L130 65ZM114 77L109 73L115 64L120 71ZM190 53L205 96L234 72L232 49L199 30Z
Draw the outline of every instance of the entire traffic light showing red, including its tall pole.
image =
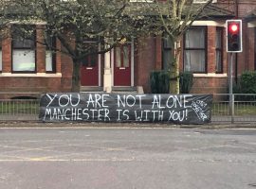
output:
M234 53L243 51L242 20L227 20L227 52L229 53L229 113L231 124L234 123L234 94L233 94L233 59Z

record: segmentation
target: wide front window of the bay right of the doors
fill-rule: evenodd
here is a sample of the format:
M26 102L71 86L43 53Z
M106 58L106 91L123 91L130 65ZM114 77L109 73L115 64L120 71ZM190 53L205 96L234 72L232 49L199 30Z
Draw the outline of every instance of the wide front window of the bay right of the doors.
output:
M192 27L184 37L184 70L206 72L206 27Z

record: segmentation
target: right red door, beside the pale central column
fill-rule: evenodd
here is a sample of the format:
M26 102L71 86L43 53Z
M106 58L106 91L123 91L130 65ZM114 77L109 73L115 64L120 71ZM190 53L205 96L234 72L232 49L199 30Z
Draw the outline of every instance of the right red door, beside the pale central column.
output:
M114 49L114 86L131 86L131 44Z

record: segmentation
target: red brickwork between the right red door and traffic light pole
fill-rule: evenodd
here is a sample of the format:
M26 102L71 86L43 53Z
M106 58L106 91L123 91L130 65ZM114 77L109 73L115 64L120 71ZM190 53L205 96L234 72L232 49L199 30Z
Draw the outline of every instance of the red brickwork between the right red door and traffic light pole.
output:
M208 26L207 29L207 73L195 75L192 86L192 94L220 94L227 93L227 53L225 32L223 33L223 72L215 74L215 41L216 26ZM140 39L137 46L137 57L135 63L136 85L143 86L145 93L150 93L150 72L160 67L161 45L158 44L158 38ZM158 45L157 45L158 44ZM183 43L181 43L181 48ZM183 49L183 48L182 48ZM156 53L155 53L156 52ZM183 71L183 52L180 57L180 71Z

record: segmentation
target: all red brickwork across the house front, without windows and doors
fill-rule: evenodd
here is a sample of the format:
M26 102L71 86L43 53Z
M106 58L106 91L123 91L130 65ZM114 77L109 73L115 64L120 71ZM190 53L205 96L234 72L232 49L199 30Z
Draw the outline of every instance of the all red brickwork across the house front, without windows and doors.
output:
M218 0L219 2L219 0ZM223 4L226 9L234 10L233 1ZM239 1L241 2L241 1ZM256 0L243 1L238 11L239 16L247 15L250 9L256 9ZM37 27L37 40L42 41L42 28ZM208 65L207 74L215 73L215 26L208 26ZM238 75L240 75L246 69L254 68L254 54L255 54L255 33L254 28L247 29L247 23L244 23L244 52L238 55L237 66ZM224 34L224 73L227 73L228 56L226 53L226 40ZM183 43L181 43L183 44ZM57 46L61 48L61 43L58 41ZM11 41L6 39L2 43L3 53L3 69L2 73L11 73ZM46 53L45 47L42 44L37 44L37 72L46 72ZM102 56L103 57L103 56ZM103 61L102 61L103 62ZM143 86L145 93L150 93L150 81L149 76L151 71L161 69L161 38L149 37L138 39L135 53L135 85ZM103 69L103 66L101 67ZM180 71L183 70L183 54L180 59ZM0 77L0 91L20 91L20 92L50 92L50 91L62 91L67 92L71 89L72 79L72 60L57 53L56 56L56 72L61 73L62 77ZM217 76L218 74L216 74ZM15 75L17 76L17 75ZM102 77L101 77L102 78ZM192 93L226 93L227 92L227 77L219 75L217 77L201 76L194 77L194 84Z

